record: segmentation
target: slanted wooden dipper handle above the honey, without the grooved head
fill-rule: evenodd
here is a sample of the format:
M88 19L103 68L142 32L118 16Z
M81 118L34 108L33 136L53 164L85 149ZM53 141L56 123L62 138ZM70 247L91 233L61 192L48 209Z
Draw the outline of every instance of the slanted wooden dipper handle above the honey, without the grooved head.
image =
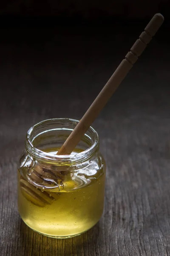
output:
M85 132L91 126L92 122L99 115L102 108L105 107L112 94L115 92L119 84L125 78L127 73L133 67L133 64L137 61L139 56L142 54L147 44L151 41L159 27L164 21L164 17L161 14L156 14L150 20L144 32L139 36L139 39L133 44L130 52L127 53L125 59L120 63L119 67L115 70L107 84L103 87L102 91L96 97L88 111L79 121L77 126L74 128L72 133L69 135L65 143L57 152L57 155L71 154L74 148L77 146L79 141L82 139Z

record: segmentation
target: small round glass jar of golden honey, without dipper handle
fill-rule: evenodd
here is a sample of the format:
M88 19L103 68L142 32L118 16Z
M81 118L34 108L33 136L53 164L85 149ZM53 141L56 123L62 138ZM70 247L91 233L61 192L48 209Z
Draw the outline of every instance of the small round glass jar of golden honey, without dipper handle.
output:
M34 231L54 238L93 227L104 206L105 160L90 127L71 155L56 155L78 121L48 119L31 127L18 168L18 209Z

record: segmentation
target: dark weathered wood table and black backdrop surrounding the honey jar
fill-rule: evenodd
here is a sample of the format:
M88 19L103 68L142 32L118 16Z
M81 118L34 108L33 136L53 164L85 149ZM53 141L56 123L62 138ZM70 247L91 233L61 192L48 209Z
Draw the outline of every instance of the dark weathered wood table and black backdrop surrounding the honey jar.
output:
M0 255L170 255L169 1L0 3ZM26 132L80 119L156 12L164 24L93 126L107 163L99 224L73 239L31 231L17 212Z

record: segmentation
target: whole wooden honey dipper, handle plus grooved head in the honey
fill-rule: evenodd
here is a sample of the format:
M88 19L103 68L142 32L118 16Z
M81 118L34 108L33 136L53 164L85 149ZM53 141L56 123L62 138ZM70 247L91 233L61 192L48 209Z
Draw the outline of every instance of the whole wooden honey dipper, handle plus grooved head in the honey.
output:
M125 58L122 60L122 62L119 64L119 66L111 76L111 78L108 80L99 95L96 97L90 108L88 108L88 111L84 114L82 119L79 121L77 126L74 128L74 130L65 141L65 143L59 149L57 155L71 154L79 141L82 139L85 132L99 115L100 111L105 107L106 103L111 98L119 84L121 84L122 80L133 67L133 64L135 64L139 56L142 54L147 44L156 34L163 21L164 17L161 14L158 13L153 16L153 18L145 27L144 32L142 32L142 34L139 36L139 39L137 39L136 42L133 44L130 52L127 53ZM37 181L42 181L42 176L44 175L44 173L45 171L43 170L43 168L33 169L30 177L34 176L34 179L37 179ZM54 178L54 180L57 177L54 173L51 173L51 176ZM62 183L61 177L59 177L59 182ZM52 201L55 199L54 196L54 198L52 197L51 200L48 192L41 193L40 190L37 190L33 185L31 185L23 178L21 178L20 180L20 186L26 198L39 206L51 204Z

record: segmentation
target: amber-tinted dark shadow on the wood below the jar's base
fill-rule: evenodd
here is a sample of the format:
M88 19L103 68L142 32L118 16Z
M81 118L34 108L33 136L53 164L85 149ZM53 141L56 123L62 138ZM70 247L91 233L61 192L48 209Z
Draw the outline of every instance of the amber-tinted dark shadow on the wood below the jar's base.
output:
M17 244L17 255L93 255L95 254L98 244L99 230L100 223L80 236L69 239L54 239L34 232L20 219L20 236Z

